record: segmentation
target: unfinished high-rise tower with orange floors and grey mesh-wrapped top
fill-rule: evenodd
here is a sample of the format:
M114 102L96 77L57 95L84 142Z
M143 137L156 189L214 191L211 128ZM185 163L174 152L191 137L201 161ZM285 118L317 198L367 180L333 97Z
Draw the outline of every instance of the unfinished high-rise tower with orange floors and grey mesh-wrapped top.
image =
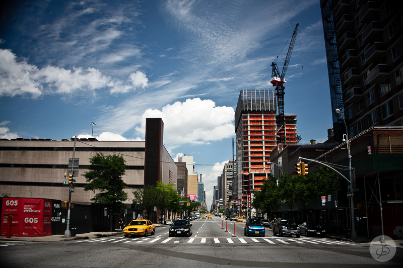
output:
M235 111L237 178L232 195L244 205L246 194L260 190L270 174L266 162L277 145L276 105L274 90L241 90L239 95Z

